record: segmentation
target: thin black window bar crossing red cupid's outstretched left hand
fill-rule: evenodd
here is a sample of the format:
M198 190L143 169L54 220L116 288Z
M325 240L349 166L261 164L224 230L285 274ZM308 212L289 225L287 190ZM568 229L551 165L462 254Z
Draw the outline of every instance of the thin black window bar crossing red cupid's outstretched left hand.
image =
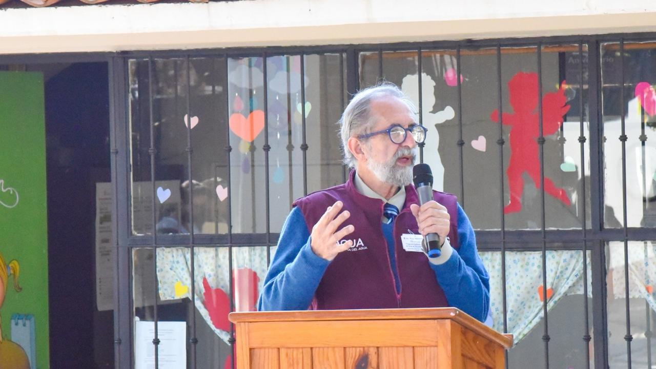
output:
M501 219L501 294L503 297L503 332L508 333L508 295L506 293L506 214L503 212L504 207L504 185L503 185L503 88L501 79L501 44L497 44L497 96L499 97L499 208L501 209L499 219ZM508 351L506 350L506 369L508 368Z

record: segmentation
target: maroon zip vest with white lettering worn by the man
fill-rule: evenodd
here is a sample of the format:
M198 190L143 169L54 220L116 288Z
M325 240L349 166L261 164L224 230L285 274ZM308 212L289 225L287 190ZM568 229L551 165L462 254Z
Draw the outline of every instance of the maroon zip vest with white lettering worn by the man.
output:
M355 171L343 185L327 188L296 200L312 233L325 209L337 200L351 216L342 224L354 225L355 231L346 236L354 246L343 251L328 265L315 292L310 309L390 309L410 307L445 307L447 299L428 265L426 255L405 251L401 234L419 234L417 219L410 204L419 204L417 190L405 186L405 204L394 221L394 250L401 282L401 293L396 293L394 274L390 267L387 243L381 221L384 203L380 199L360 194L354 185ZM433 198L447 208L451 216L449 241L458 248L457 199L452 194L433 191Z

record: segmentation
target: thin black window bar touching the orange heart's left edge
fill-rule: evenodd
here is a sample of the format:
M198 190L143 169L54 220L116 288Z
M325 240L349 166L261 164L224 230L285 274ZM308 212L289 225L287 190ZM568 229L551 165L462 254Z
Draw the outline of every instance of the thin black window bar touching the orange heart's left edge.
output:
M231 188L232 188L232 168L230 167L230 152L232 152L232 146L230 146L230 86L229 86L229 81L228 81L228 76L230 76L230 68L229 68L229 62L230 58L228 58L228 54L224 54L224 70L226 72L226 79L224 81L226 88L224 89L225 94L226 94L226 125L225 125L225 130L226 130L226 160L227 160L227 167L228 167L228 283L230 284L228 288L230 288L230 311L235 311L235 291L234 291L234 283L233 283L233 275L232 275L232 194L231 194ZM235 358L232 356L232 353L234 353L234 347L235 347L235 324L233 322L230 322L230 338L228 339L230 342L230 368L235 367Z

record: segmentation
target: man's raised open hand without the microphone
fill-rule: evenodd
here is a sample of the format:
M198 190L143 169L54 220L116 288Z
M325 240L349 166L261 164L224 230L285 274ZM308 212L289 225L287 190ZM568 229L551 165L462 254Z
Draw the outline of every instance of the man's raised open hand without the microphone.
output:
M344 204L341 201L329 206L325 213L321 215L319 221L312 227L312 234L310 234L310 238L312 238L310 244L312 251L318 257L328 261L335 259L338 253L346 251L353 246L352 240L348 240L343 244L338 243L342 238L355 230L353 225L347 225L337 230L351 216L348 210L339 213L342 206ZM339 215L337 215L338 213Z

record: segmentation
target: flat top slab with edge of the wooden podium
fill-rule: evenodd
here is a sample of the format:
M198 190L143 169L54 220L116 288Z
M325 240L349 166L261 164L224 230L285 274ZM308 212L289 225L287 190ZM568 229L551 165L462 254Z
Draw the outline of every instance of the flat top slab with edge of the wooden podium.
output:
M298 322L325 320L435 320L449 319L480 336L510 349L512 334L501 334L454 307L421 309L360 309L360 310L305 310L234 312L228 316L233 323Z

